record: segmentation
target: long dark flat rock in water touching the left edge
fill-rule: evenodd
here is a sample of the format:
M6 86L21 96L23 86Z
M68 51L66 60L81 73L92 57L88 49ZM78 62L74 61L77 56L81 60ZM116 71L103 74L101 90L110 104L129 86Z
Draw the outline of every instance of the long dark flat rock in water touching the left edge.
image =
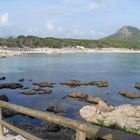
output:
M23 85L20 83L2 83L0 84L0 89L3 88L10 88L10 89L16 89L16 88L22 88Z

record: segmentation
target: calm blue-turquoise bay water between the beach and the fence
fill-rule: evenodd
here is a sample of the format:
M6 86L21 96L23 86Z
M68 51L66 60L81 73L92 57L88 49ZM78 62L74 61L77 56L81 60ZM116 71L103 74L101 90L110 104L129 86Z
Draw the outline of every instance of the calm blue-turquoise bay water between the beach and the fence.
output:
M122 103L140 104L140 99L127 99L118 94L120 90L134 88L135 82L140 82L139 54L57 54L57 55L24 55L0 59L0 76L6 76L2 82L18 82L25 78L23 85L33 87L33 82L56 82L50 95L21 95L20 90L1 89L0 94L6 94L10 102L27 107L46 110L50 105L64 107L65 116L78 118L79 109L86 105L77 99L65 98L72 91L82 91L106 100L109 104ZM69 88L59 85L67 80L81 81L107 80L109 87L81 86ZM110 94L107 94L109 92Z

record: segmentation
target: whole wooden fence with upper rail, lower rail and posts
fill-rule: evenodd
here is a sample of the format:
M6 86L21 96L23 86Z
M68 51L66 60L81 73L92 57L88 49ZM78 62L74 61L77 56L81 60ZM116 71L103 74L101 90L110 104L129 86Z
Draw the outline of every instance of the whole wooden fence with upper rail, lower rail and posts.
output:
M86 137L95 139L96 137L104 138L107 140L140 140L140 136L126 133L119 130L114 130L102 126L92 125L86 122L81 122L78 120L69 119L66 117L62 117L59 115L55 115L52 113L47 113L43 111L38 111L34 109L30 109L27 107L23 107L20 105L15 105L11 103L7 103L4 101L0 101L0 136L3 136L3 126L6 128L22 135L25 138L28 138L30 140L41 140L41 138L38 138L22 129L19 129L10 123L6 122L2 118L2 109L6 108L9 110L13 110L28 116L32 116L41 120L50 121L62 126L66 126L68 128L72 128L76 130L76 140L85 140Z

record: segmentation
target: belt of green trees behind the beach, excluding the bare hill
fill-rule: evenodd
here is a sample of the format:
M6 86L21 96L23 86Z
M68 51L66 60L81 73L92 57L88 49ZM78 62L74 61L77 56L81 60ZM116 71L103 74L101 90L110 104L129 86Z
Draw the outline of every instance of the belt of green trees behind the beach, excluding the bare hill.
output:
M82 39L60 39L60 38L41 38L36 36L18 36L17 38L0 38L0 46L8 47L75 47L84 46L86 48L103 48L103 47L116 47L116 48L133 48L140 49L140 42L134 41L119 41L119 40L82 40Z

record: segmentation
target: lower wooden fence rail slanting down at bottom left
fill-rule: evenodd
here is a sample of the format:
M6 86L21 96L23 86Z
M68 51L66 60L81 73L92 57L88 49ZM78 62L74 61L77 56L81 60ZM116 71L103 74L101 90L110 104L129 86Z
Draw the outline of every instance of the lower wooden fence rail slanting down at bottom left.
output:
M30 139L30 140L42 140L42 139L40 139L40 138L38 138L38 137L36 137L36 136L34 136L34 135L32 135L32 134L30 134L30 133L24 131L24 130L21 130L21 129L19 129L19 128L17 128L17 127L15 127L15 126L11 125L11 124L9 124L9 123L6 122L6 121L3 121L3 120L2 120L2 124L3 124L5 127L7 127L8 129L10 129L10 130L16 132L17 134L20 134L20 135L24 136L24 137L27 138L27 139Z

